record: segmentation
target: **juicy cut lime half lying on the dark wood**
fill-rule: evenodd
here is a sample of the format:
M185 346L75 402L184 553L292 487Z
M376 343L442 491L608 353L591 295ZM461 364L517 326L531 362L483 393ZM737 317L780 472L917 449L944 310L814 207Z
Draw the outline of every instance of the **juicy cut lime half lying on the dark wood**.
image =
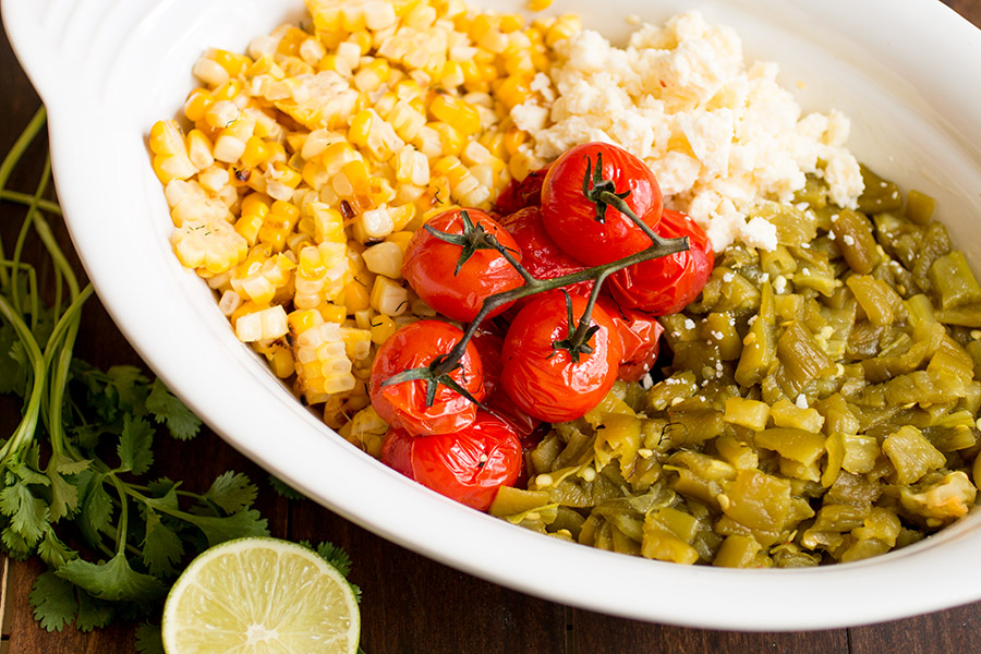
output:
M350 584L317 553L253 537L191 561L162 631L168 654L354 654L361 617Z

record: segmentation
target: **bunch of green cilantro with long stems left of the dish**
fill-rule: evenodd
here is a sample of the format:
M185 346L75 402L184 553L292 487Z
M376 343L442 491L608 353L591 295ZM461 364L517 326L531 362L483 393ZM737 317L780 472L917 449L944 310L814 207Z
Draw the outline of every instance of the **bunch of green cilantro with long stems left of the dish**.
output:
M87 631L116 618L155 619L195 555L268 535L268 526L253 508L258 489L242 473L222 473L204 493L154 479L155 441L191 439L201 421L140 368L100 370L74 355L93 288L80 284L48 223L61 216L44 197L50 161L33 194L5 190L44 125L41 108L0 162L0 201L23 209L13 247L0 241L0 395L22 402L19 424L0 438L0 547L48 565L29 596L41 627ZM43 245L40 267L24 258L29 239ZM330 545L318 550L347 560ZM136 647L159 650L152 625L140 627Z

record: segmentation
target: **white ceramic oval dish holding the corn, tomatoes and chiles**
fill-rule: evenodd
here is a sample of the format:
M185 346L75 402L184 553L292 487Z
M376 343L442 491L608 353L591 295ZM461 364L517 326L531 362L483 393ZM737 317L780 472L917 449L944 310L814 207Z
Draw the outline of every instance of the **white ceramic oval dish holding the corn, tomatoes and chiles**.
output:
M520 9L520 0L483 0ZM852 118L859 158L940 201L981 269L981 32L937 0L556 0L622 38L622 16L697 8L748 56L806 86L806 109ZM58 193L98 294L126 338L234 447L354 522L492 581L593 610L691 627L798 630L899 618L981 598L981 517L881 558L808 570L683 567L571 545L447 500L356 451L239 343L170 251L149 166L207 47L242 50L303 14L300 0L2 0L49 111Z

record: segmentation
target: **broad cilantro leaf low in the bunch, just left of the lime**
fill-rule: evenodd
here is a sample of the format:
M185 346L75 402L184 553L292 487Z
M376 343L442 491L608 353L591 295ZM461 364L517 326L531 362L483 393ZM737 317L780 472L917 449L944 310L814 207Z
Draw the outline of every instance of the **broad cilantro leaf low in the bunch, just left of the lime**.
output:
M156 577L133 570L123 553L104 564L77 558L59 568L56 574L99 600L147 602L162 597L168 589Z

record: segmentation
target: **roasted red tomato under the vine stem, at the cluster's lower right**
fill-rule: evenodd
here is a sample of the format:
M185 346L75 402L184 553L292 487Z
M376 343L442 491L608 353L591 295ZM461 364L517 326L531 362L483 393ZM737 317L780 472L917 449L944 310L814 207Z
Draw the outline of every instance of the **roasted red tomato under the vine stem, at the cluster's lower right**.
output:
M588 303L570 295L578 324ZM562 347L571 337L565 293L533 298L514 317L504 344L500 383L525 413L548 422L582 416L613 387L620 364L620 337L613 318L593 307L590 324L598 329L578 354ZM574 329L574 326L572 327Z

